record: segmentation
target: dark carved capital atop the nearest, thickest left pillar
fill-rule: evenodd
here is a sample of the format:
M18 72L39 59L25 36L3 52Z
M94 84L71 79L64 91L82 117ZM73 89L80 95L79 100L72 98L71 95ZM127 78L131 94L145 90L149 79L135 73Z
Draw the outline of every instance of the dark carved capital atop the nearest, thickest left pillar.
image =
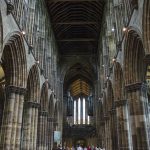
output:
M6 93L13 92L13 93L22 94L22 95L24 95L27 91L25 88L15 86L15 85L6 86L5 90L6 90Z

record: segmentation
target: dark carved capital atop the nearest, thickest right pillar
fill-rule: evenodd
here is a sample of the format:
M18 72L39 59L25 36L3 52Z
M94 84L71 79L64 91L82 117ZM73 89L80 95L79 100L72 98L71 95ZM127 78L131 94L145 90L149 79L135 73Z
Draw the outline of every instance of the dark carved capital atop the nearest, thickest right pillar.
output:
M126 88L127 92L133 92L133 91L137 91L137 90L142 90L142 91L147 90L146 84L142 83L142 82L136 82L136 83L128 84L125 86L125 88Z

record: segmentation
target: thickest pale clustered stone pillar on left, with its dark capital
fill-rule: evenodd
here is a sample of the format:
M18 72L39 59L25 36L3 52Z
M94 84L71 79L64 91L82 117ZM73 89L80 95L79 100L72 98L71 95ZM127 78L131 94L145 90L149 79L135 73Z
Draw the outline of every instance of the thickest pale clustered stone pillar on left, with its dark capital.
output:
M13 85L7 86L5 90L6 100L1 128L0 149L17 150L18 146L20 147L23 102L26 90Z

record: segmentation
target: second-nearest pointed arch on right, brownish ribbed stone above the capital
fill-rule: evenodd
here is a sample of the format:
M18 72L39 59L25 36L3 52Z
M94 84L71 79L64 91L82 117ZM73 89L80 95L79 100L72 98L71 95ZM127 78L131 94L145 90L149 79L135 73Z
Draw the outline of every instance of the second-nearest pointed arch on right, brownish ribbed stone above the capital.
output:
M114 100L122 100L123 93L123 72L119 62L114 63L114 74L113 74L113 89L114 89Z

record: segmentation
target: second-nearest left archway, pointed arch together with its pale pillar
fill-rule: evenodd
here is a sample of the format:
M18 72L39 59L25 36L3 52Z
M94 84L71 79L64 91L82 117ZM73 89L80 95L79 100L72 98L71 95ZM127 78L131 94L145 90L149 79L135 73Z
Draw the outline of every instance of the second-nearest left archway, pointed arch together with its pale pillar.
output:
M38 109L40 107L39 69L33 65L29 71L23 113L22 149L36 149Z

